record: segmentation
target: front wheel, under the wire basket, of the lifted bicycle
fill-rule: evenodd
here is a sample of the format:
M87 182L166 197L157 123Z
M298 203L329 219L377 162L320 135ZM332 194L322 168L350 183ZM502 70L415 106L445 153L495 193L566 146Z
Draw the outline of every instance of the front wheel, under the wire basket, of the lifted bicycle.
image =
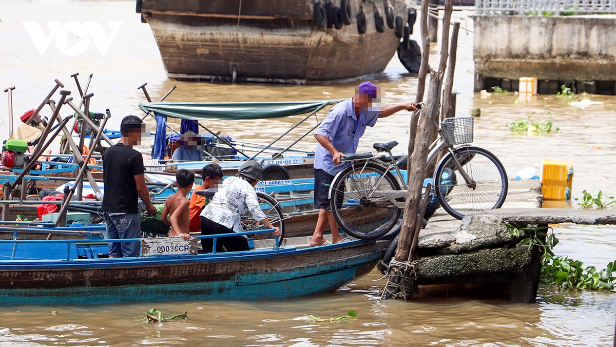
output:
M434 189L444 210L462 219L467 214L503 206L508 182L498 158L479 147L458 147L453 152L471 182L464 180L452 153L447 153L434 174Z

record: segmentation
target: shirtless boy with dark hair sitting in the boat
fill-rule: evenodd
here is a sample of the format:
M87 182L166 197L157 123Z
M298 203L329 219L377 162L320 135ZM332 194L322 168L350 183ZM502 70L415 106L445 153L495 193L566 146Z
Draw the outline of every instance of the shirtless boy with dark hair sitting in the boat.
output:
M164 202L161 221L171 226L169 236L181 236L184 240L190 239L188 234L190 229L190 208L186 194L190 192L195 184L195 173L187 169L179 169L176 172L176 194L171 195ZM168 216L171 216L168 218Z

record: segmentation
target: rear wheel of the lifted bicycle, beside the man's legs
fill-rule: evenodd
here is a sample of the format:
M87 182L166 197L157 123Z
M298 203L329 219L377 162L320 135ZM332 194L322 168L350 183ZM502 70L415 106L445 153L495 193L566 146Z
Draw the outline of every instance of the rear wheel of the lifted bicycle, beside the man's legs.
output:
M330 206L338 226L357 239L381 237L394 227L400 209L383 194L400 190L394 175L381 165L348 166L331 182Z

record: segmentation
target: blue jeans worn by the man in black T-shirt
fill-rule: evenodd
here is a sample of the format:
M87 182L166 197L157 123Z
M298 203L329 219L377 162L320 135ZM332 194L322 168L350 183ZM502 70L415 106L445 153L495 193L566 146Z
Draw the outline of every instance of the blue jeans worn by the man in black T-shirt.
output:
M105 239L139 239L139 213L103 213L107 224ZM139 242L109 242L109 256L139 256Z

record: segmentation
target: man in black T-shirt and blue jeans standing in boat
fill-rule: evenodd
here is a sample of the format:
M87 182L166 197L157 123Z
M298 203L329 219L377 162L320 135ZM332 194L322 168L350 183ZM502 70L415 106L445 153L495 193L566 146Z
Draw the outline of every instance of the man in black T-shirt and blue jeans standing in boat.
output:
M124 117L120 125L120 141L103 153L103 218L107 239L139 239L139 205L145 203L149 214L156 213L150 202L144 179L144 159L132 146L141 144L145 124L137 116ZM139 256L139 242L109 243L109 258Z

